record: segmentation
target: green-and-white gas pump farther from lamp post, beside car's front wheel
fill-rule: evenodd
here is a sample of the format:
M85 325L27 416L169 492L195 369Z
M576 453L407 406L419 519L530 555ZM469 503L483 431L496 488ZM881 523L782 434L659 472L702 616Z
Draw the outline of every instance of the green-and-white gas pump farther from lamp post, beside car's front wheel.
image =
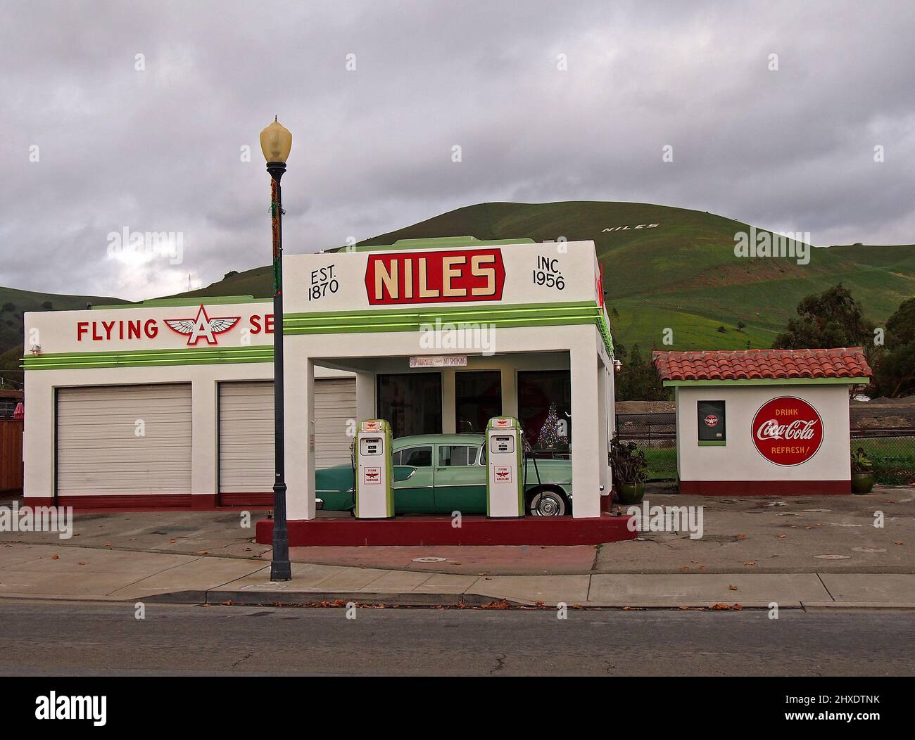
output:
M524 516L524 470L521 424L511 416L496 416L486 425L486 515Z

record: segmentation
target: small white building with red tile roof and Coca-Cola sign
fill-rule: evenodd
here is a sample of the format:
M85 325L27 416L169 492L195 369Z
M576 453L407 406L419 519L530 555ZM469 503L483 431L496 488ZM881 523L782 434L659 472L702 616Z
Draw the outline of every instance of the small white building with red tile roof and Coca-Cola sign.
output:
M676 400L682 493L851 492L849 388L867 384L860 347L654 352Z

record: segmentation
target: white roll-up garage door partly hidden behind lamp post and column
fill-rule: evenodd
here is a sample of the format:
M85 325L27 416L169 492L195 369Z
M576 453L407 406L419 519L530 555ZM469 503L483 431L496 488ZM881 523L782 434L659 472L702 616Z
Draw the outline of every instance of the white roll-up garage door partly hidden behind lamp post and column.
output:
M315 467L350 462L355 415L354 379L315 381ZM221 382L220 493L268 493L273 485L273 382Z

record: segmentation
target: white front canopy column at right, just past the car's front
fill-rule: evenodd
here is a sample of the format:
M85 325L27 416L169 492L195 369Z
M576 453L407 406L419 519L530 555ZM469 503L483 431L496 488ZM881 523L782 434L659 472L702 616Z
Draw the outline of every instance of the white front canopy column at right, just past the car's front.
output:
M572 513L600 516L600 413L595 327L568 327L572 381ZM606 450L606 447L604 447ZM606 459L607 453L603 452Z

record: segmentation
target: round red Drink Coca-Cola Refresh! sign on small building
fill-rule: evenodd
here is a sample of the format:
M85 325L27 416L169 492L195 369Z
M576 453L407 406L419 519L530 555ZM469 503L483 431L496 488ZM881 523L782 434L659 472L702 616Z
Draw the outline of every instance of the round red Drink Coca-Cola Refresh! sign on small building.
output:
M801 465L823 444L823 420L803 399L773 398L753 417L753 444L775 465Z

